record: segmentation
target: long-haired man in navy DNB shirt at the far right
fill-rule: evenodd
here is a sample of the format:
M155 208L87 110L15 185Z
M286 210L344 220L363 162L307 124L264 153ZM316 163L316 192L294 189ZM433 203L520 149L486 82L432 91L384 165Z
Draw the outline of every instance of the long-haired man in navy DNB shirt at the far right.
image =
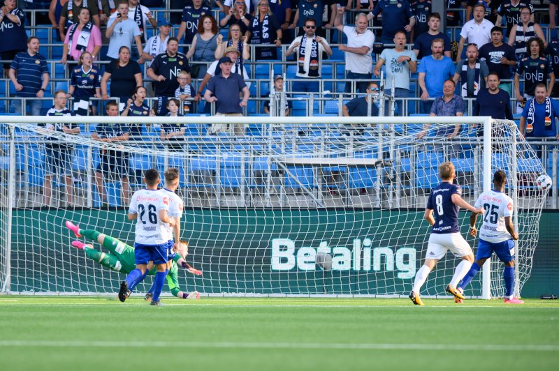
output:
M516 100L518 106L516 112L523 112L524 103L534 98L534 91L537 84L549 85L546 95L551 96L553 85L555 84L555 74L551 61L544 57L544 42L540 38L528 40L530 56L521 59L516 63L516 74L514 75L514 87L516 89ZM520 92L520 77L524 78L524 94Z

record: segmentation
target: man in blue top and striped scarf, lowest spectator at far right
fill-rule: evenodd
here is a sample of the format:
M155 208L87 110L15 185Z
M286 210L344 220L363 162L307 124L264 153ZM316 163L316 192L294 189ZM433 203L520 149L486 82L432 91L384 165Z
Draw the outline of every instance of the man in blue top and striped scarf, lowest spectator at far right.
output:
M537 84L535 96L526 103L520 117L520 132L530 137L555 137L556 119L559 119L559 103L549 98L545 84ZM539 153L541 155L541 153Z

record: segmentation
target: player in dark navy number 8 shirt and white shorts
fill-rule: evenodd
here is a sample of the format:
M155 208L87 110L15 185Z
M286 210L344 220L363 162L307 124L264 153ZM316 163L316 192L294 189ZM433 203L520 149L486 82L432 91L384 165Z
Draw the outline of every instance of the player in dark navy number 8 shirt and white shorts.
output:
M435 268L435 264L447 254L447 250L462 259L456 266L452 280L446 288L449 294L456 298L463 299L464 296L458 292L456 285L470 270L474 262L472 248L460 234L458 227L458 207L472 211L472 213L483 213L484 209L476 208L465 202L460 195L460 186L453 184L456 178L456 171L452 162L443 162L439 166L439 174L442 182L437 188L431 190L425 209L425 219L433 230L429 237L427 252L423 266L419 268L415 275L414 288L409 293L409 298L416 305L423 305L419 297L421 286L427 279L430 271ZM433 213L435 218L433 218Z

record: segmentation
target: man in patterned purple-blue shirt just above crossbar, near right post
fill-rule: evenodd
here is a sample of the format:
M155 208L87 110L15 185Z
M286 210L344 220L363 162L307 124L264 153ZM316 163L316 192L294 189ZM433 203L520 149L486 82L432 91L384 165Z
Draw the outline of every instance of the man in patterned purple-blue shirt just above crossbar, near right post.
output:
M455 90L456 83L453 79L446 79L442 85L443 95L435 99L429 116L464 116L464 100L454 93ZM430 124L428 123L423 127L423 130L417 135L417 139L421 139L427 134L429 126ZM452 139L460 132L460 126L461 124L457 123L455 126L447 125L437 128L435 136L444 136Z

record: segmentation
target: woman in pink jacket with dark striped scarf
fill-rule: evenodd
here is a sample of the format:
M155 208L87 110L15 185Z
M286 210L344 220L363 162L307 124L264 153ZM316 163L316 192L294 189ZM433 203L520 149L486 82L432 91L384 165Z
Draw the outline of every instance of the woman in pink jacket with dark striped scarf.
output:
M101 50L101 31L95 24L89 21L89 9L81 8L79 23L74 23L68 27L61 63L66 64L68 57L71 61L78 61L82 52L90 52L95 59Z

